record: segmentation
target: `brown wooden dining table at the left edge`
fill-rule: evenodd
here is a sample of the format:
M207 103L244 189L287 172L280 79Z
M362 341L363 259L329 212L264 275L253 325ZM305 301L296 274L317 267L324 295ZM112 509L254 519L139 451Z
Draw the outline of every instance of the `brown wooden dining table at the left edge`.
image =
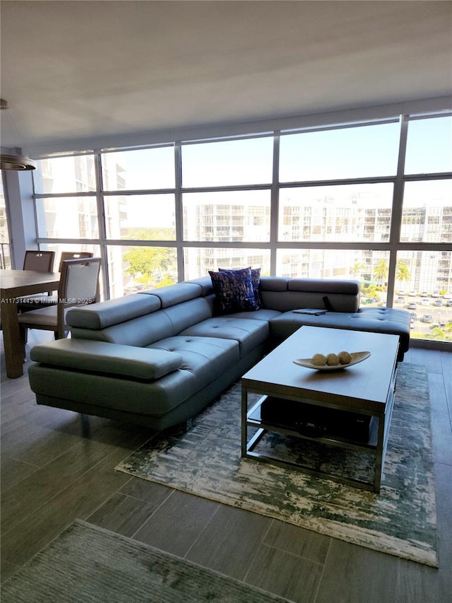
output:
M34 270L0 270L1 329L6 361L6 376L16 379L23 375L25 349L20 340L18 322L18 298L35 293L56 291L59 272Z

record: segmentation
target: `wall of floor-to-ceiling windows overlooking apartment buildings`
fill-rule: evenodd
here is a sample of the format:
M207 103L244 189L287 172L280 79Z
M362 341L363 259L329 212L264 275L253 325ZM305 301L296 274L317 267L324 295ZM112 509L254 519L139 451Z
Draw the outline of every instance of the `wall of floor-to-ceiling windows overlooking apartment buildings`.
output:
M405 115L47 157L42 248L101 254L118 297L208 270L359 279L452 338L452 117Z

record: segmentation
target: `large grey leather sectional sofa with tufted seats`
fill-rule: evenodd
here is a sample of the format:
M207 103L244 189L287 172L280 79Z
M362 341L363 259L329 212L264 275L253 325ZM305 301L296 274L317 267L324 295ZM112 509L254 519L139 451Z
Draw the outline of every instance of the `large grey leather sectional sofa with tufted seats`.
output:
M410 315L359 308L359 282L262 277L261 308L218 315L210 277L69 310L71 337L32 348L37 404L157 430L184 423L304 324L398 334ZM292 312L325 308L323 315Z

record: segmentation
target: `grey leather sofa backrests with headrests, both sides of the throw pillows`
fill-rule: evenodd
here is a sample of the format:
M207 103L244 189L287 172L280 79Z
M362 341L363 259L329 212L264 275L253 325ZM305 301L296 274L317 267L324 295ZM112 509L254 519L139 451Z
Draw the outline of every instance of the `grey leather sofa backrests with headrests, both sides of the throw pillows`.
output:
M325 298L335 312L357 312L359 281L263 276L261 297L264 308L279 312L326 308ZM73 308L67 322L75 339L145 347L213 317L215 308L210 277L204 277Z

